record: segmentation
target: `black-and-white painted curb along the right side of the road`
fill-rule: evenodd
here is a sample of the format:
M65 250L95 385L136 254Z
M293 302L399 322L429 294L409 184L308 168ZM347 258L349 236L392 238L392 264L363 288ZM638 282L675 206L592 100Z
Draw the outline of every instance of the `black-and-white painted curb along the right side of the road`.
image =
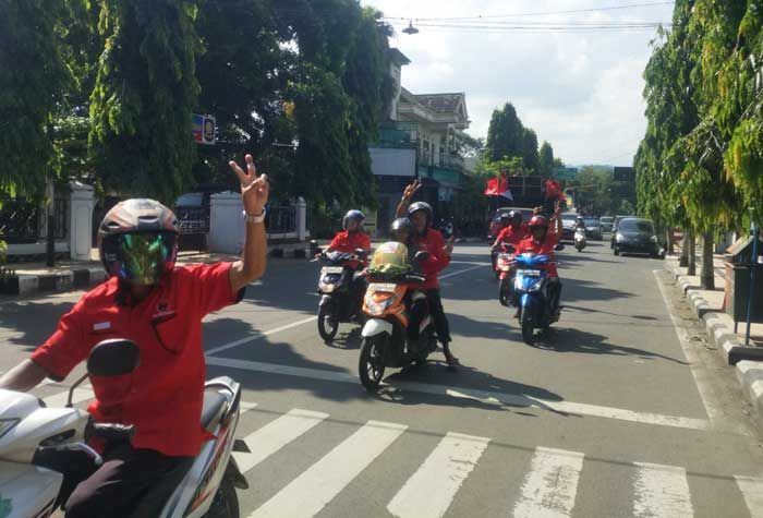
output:
M707 336L717 347L720 357L736 370L737 380L756 415L763 417L763 348L744 347L734 333L734 323L726 313L712 308L699 291L692 291L690 288L695 287L674 268L673 262L666 263L666 269L676 277L698 316L704 322Z

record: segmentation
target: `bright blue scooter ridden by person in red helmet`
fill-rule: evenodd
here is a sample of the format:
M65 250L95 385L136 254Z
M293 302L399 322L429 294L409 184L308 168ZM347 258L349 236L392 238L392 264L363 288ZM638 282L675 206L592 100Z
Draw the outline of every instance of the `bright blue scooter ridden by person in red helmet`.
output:
M555 250L564 250L564 245L558 244ZM559 320L558 315L553 314L546 289L546 267L553 262L545 254L525 253L517 255L513 263L517 268L514 292L520 310L518 320L522 328L522 340L532 346L536 328L545 330Z

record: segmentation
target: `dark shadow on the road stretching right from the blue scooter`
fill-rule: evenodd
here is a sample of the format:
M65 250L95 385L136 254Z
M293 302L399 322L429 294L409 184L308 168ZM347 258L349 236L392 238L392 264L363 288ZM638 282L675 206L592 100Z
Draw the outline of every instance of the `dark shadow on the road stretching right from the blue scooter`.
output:
M677 360L658 352L646 351L635 347L608 344L607 337L580 329L552 327L540 335L533 347L554 352L574 352L586 354L633 356L642 360L662 359L680 365L686 361Z

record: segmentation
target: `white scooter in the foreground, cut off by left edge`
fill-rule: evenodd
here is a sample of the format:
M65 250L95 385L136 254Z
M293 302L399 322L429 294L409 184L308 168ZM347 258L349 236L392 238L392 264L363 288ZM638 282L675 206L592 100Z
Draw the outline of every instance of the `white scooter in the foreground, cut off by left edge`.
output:
M130 340L104 340L93 348L87 372L97 376L130 374L140 363L137 346ZM87 445L92 437L125 439L133 427L94 422L84 410L73 408L74 388L65 408L47 408L40 399L25 393L0 389L0 517L48 517L58 502L63 474L38 466L41 453L83 451L95 470L104 462ZM202 446L183 481L174 489L160 518L238 518L235 489L247 489L231 450L249 451L245 443L234 441L239 423L241 387L229 377L205 384L202 425L214 438ZM141 514L136 503L134 516Z

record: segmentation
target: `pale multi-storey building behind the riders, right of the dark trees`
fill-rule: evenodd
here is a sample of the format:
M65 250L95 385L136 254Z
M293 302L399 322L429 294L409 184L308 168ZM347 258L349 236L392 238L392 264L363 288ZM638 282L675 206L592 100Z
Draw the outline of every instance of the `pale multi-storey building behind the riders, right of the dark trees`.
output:
M468 129L470 122L465 94L409 92L401 76L402 67L411 61L398 49L390 52L395 98L379 129L379 142L368 149L379 194L372 221L378 234L389 227L403 189L415 178L422 180L421 197L434 207L435 217L452 216L467 173L464 159L455 149L457 132Z

